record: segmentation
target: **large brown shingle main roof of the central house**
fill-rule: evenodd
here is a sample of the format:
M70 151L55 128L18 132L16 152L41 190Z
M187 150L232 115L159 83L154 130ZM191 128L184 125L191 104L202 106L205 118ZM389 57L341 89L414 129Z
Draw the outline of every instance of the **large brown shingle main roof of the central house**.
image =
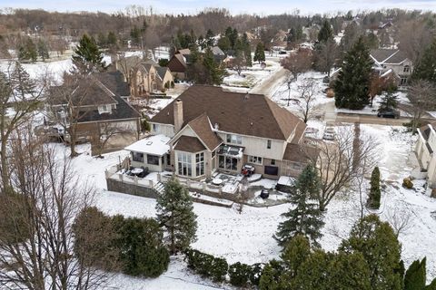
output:
M203 113L220 131L274 140L287 140L301 124L291 112L261 94L224 92L221 87L193 85L178 99L183 102L183 126ZM151 120L174 124L173 102Z

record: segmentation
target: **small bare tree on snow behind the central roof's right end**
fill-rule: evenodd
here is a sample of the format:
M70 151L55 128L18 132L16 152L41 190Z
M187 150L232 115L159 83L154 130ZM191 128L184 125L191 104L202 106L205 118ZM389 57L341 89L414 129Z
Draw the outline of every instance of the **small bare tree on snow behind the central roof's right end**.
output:
M304 80L302 84L298 86L298 92L300 93L297 106L302 113L302 121L307 123L309 119L312 119L316 113L316 92L318 91L318 85L313 80Z

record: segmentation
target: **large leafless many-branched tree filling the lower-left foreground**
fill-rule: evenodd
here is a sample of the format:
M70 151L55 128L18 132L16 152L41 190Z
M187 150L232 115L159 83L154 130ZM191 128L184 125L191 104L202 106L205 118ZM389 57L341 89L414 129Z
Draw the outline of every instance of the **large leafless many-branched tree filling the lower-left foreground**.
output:
M11 163L15 193L2 195L0 211L0 287L102 286L108 274L85 267L74 256L74 218L93 202L94 189L79 182L70 160L56 159L53 148L35 142L30 130L15 132Z

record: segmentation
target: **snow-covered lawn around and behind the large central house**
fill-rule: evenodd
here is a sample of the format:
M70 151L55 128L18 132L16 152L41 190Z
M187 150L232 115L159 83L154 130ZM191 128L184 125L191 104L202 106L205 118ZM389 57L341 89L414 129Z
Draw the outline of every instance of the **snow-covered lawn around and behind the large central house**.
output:
M319 125L319 124L318 124ZM316 127L316 124L313 124ZM414 180L416 191L402 189L401 180L411 175L416 167L416 160L411 150L415 141L410 134L402 132L403 128L380 125L362 125L362 133L373 136L380 143L381 177L387 185L382 192L381 209L377 212L384 220L391 221L395 211L410 216L408 227L401 232L402 258L406 266L415 259L427 256L428 279L436 276L436 219L431 212L436 211L436 200L421 193L421 180ZM65 148L56 144L60 156ZM97 207L104 212L124 214L129 217L154 217L155 200L140 198L105 190L104 169L114 165L126 156L126 151L117 151L105 155L103 160L94 159L86 152L89 146L83 145L84 152L73 160L74 169L83 179L95 184L98 190ZM66 150L67 151L67 150ZM269 184L269 181L260 181ZM360 209L357 193L347 191L334 198L325 215L326 225L322 229L322 247L333 251L348 236L353 223L358 219ZM278 257L280 247L272 234L282 220L280 215L287 205L269 208L251 208L245 206L239 214L235 208L218 208L203 204L194 204L198 218L197 241L193 247L214 256L223 256L230 263L267 262ZM206 285L203 285L206 284ZM123 289L207 289L213 287L196 275L190 274L183 261L175 258L169 270L157 279L138 279L125 275L116 275L112 284ZM121 286L120 286L121 285ZM127 286L129 285L129 286ZM220 286L221 287L221 286ZM228 287L228 286L226 286Z

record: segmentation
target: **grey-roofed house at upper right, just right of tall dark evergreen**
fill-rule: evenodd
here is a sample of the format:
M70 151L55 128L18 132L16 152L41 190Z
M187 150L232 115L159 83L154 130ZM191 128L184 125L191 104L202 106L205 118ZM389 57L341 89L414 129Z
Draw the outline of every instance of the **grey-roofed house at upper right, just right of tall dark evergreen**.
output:
M407 86L413 64L407 56L398 49L373 49L370 54L374 62L373 70L381 76L392 75L399 87Z

